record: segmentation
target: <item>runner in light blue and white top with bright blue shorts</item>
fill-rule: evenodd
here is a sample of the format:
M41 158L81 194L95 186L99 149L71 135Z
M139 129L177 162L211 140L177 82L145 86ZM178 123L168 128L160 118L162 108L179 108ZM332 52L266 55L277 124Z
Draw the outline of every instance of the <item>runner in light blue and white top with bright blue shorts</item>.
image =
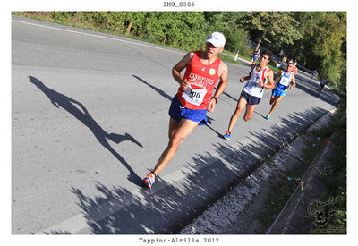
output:
M288 64L286 71L281 70L277 72L276 79L276 87L272 89L272 95L269 100L269 104L272 105L271 110L268 115L266 115L266 119L269 121L271 114L277 108L278 103L286 96L287 88L294 89L296 87L296 82L294 80L294 72L292 72L294 68L294 64ZM292 81L292 85L290 85Z

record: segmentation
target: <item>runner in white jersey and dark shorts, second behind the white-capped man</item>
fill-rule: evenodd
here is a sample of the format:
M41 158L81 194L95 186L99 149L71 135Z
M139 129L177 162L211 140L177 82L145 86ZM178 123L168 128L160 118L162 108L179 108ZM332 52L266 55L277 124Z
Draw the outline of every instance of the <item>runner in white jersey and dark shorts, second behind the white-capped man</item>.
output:
M229 127L226 134L223 136L226 140L230 139L231 131L243 111L243 108L246 106L243 120L248 122L250 121L256 106L260 103L264 89L273 89L275 87L274 74L267 66L271 58L272 53L264 51L260 58L260 64L254 64L249 76L242 77L240 79L240 82L242 83L247 80L248 82L243 87L243 91L241 92L234 114L231 116Z

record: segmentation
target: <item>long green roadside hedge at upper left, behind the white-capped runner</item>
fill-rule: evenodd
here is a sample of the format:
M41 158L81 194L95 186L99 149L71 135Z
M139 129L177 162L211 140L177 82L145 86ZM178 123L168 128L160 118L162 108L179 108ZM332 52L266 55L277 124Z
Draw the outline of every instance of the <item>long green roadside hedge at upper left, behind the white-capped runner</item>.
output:
M46 13L46 12L44 12ZM44 15L28 12L25 15ZM20 13L21 14L21 13ZM249 56L246 46L248 34L238 28L235 18L240 13L224 12L51 12L54 21L76 23L76 26L129 34L132 37L149 38L152 42L178 47L183 50L197 50L205 47L209 34L214 31L226 36L226 50Z

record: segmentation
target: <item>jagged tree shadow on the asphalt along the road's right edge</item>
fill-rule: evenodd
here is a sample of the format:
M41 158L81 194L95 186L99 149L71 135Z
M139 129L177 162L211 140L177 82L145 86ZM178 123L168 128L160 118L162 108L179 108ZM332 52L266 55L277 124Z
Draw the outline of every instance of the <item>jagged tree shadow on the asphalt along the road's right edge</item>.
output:
M158 177L152 190L128 191L98 182L96 189L100 195L94 198L74 187L72 192L79 199L78 205L90 233L179 233L226 191L263 165L262 157L272 154L272 149L290 135L303 131L325 113L327 111L322 109L292 113L282 120L283 124L272 124L265 133L249 132L249 144L236 142L229 145L227 141L219 140L213 143L213 152L192 157L192 162L182 171L182 180L165 181ZM290 165L289 160L287 165Z

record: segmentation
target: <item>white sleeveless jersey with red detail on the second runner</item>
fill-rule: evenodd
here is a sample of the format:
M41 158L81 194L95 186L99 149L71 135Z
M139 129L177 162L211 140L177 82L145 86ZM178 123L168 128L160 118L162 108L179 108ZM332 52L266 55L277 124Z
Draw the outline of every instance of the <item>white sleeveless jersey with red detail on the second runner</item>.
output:
M250 94L253 97L262 98L264 89L260 87L259 85L259 79L263 81L264 83L267 83L266 81L266 72L269 71L268 67L265 67L261 69L260 71L257 71L257 64L255 64L250 72L250 80L247 81L245 86L243 87L243 91Z

